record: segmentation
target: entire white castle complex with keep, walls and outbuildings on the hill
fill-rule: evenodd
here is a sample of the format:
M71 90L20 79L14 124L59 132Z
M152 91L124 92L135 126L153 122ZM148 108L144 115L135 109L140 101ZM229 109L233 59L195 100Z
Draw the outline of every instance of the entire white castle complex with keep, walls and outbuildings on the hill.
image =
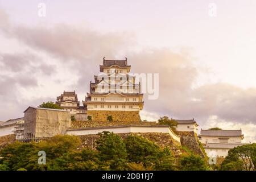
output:
M195 138L199 125L194 119L175 119L180 135L168 125L141 121L139 111L144 105L141 82L135 82L136 77L130 74L130 69L127 58L106 60L104 57L100 73L94 76L94 82L90 81L89 93L82 106L75 91L64 91L56 99L62 110L30 106L24 111L24 118L0 122L0 137L15 134L18 140L31 141L57 134L81 136L102 131L166 134L178 143L186 143L192 148L197 146L200 151ZM71 122L71 118L76 121ZM207 154L215 152L217 156L226 156L230 148L246 144L241 143L242 139L242 130L201 130L199 135Z

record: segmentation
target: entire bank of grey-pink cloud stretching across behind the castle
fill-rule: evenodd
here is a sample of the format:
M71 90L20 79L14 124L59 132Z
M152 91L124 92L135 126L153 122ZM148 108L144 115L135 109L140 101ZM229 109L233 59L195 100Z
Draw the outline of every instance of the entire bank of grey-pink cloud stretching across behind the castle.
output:
M192 52L187 49L179 52L167 48L134 51L133 47L137 46L135 36L129 32L104 34L89 27L68 24L28 27L12 24L0 10L1 30L3 36L16 39L31 50L24 53L14 50L15 53L1 53L0 56L0 68L3 70L0 84L5 85L0 90L0 97L1 100L5 97L9 104L10 115L21 110L18 107L28 106L29 102L15 105L13 98L21 97L20 88L43 89L41 93L54 88L68 88L84 97L89 90L89 81L99 72L98 65L106 56L107 59L128 57L133 73L159 73L159 98L147 100L145 94L143 118L152 120L162 115L195 118L204 126L211 115L217 115L218 119L233 123L236 127L245 124L249 128L255 124L256 88L242 89L228 83L208 83L195 87L197 78L205 69L196 63ZM47 55L49 61L42 55ZM70 79L65 77L67 73L77 79L68 82ZM208 76L205 72L204 75ZM44 79L44 82L39 80L39 77L48 76L58 81L53 80L52 86L48 81L51 79ZM40 85L44 86L40 88ZM25 94L30 96L31 93L27 91ZM53 100L55 97L44 96ZM31 101L36 102L36 98ZM5 107L0 105L0 109ZM219 123L222 125L224 122Z

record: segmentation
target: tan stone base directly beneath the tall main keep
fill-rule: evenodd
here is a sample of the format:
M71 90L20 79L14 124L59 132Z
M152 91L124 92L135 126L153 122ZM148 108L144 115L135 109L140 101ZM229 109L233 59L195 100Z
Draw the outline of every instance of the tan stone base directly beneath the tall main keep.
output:
M141 121L139 111L88 110L87 115L92 116L93 121L108 121L109 115L113 121Z

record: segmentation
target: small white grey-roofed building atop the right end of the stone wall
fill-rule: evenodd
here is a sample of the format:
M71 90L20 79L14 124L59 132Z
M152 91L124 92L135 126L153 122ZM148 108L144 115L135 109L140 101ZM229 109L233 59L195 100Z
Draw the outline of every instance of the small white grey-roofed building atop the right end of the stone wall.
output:
M174 119L177 122L177 131L193 131L197 134L198 125L194 119Z

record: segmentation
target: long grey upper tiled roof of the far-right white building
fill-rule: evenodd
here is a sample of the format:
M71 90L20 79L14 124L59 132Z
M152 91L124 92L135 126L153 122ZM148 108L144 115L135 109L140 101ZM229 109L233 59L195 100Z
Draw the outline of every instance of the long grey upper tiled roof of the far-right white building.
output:
M242 130L201 130L201 136L213 137L240 137L243 136Z

